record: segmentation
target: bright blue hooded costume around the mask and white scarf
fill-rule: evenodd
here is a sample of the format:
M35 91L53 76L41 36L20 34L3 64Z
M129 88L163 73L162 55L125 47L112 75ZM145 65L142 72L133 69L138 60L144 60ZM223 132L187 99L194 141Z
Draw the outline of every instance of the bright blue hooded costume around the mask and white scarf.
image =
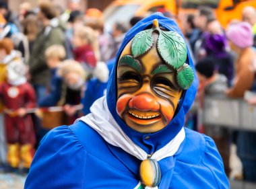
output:
M158 19L166 30L181 30L173 20L155 13L138 22L125 36L117 54L120 56L126 44L138 32L150 28ZM188 53L188 63L193 68ZM117 59L118 60L118 59ZM106 104L112 117L126 136L135 145L151 154L162 149L183 129L185 114L189 111L197 91L197 79L183 96L177 112L170 123L156 133L139 133L131 129L118 116L117 105L117 62L108 81ZM103 99L104 100L104 99ZM100 106L102 108L106 108ZM102 122L100 120L100 122ZM104 122L102 122L102 127ZM115 139L113 139L115 141ZM83 121L71 126L60 126L48 133L36 152L25 188L143 188L139 183L141 160L127 153L121 147L110 145L94 128ZM210 137L185 128L185 140L178 151L158 161L161 170L160 189L166 188L229 188L222 159Z

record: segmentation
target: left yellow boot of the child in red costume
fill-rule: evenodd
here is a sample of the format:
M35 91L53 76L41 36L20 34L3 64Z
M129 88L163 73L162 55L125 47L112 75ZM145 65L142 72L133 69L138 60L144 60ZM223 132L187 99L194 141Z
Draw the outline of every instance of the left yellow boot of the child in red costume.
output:
M13 168L18 168L20 165L20 145L8 145L7 162Z

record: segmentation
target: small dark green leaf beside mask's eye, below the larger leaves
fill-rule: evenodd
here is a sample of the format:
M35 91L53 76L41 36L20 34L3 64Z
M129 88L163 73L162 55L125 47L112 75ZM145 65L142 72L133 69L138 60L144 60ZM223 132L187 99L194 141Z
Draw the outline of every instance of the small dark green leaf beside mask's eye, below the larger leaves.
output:
M181 89L185 90L193 83L193 69L186 63L177 72L177 83Z

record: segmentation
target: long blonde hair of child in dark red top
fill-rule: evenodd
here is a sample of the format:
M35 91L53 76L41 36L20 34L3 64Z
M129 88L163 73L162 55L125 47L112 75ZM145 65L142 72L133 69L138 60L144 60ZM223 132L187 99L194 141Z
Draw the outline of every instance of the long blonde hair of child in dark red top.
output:
M92 30L92 28L87 26L82 26L75 30L75 35L77 35L82 40L87 40L88 43L92 46L94 50L94 54L96 56L97 61L100 60L100 48L98 44L98 36L96 32Z

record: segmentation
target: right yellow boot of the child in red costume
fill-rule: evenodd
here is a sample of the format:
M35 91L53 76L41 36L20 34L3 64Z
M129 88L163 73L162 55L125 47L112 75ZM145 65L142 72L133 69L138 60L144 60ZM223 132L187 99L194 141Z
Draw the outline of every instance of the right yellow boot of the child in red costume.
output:
M34 157L34 149L33 149L32 145L30 145L30 144L22 145L22 147L20 149L20 156L23 160L24 167L29 169L32 159Z

